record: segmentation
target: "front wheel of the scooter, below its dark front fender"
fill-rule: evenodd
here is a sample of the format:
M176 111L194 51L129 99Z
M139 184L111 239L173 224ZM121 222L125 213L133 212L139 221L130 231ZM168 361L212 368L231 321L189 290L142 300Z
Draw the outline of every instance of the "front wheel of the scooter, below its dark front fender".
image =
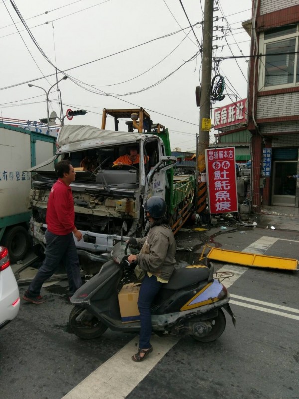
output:
M71 331L83 340L91 340L100 337L107 326L80 306L75 306L69 316Z

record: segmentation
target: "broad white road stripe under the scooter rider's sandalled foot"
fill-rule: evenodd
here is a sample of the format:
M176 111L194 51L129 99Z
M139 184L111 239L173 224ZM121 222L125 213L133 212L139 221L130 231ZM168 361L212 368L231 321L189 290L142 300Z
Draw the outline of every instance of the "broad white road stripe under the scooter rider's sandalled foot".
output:
M144 361L133 362L131 356L137 352L138 338L133 338L62 399L124 399L179 340L153 335L153 352Z

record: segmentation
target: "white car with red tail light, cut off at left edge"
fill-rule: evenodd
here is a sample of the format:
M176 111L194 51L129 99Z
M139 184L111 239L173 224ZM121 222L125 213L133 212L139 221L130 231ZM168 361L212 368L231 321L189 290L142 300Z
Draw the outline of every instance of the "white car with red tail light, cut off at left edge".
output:
M0 246L0 329L16 317L19 309L20 294L8 250Z

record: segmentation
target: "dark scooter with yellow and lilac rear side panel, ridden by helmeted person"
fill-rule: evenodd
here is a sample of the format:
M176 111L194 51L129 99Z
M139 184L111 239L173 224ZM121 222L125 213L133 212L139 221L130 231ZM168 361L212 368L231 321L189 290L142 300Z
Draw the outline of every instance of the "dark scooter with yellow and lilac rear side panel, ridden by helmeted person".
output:
M96 338L108 327L115 331L139 332L139 320L129 323L122 320L118 301L124 276L132 270L128 252L134 253L133 248L129 249L129 245L134 244L137 242L133 237L127 243L117 243L111 259L71 297L75 307L69 316L69 326L78 337ZM156 334L190 335L200 342L214 341L225 329L222 309L235 325L230 296L225 286L213 278L213 269L212 264L208 267L176 265L169 282L163 285L152 304L152 329Z

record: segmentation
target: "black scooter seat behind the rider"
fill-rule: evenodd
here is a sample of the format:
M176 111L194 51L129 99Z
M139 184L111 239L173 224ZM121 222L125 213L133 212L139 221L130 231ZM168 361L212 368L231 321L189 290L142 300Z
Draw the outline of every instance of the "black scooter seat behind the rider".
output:
M167 290L179 290L200 281L208 280L211 270L208 267L183 267L174 269L170 280L165 284Z

